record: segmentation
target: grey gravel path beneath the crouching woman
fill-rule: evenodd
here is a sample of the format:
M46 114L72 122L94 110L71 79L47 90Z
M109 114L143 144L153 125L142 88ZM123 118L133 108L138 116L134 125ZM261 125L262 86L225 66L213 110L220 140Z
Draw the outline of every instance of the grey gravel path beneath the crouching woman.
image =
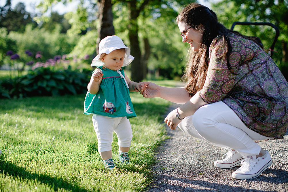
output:
M173 104L169 112L179 105ZM168 114L168 113L167 113ZM164 119L164 118L163 118ZM178 127L170 130L170 139L160 147L154 166L154 182L149 192L176 191L288 191L288 132L283 140L260 142L272 157L272 165L259 177L249 180L236 180L231 177L232 169L214 166L214 161L221 159L225 149L209 142L194 138Z

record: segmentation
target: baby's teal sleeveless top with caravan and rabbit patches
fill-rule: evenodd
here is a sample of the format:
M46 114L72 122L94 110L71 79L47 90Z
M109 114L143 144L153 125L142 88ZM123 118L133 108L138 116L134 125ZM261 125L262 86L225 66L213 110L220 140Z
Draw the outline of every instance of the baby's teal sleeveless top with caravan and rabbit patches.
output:
M121 75L114 70L99 66L103 72L100 89L96 94L86 94L84 101L84 114L96 114L108 117L136 117L129 95L123 68L119 69Z

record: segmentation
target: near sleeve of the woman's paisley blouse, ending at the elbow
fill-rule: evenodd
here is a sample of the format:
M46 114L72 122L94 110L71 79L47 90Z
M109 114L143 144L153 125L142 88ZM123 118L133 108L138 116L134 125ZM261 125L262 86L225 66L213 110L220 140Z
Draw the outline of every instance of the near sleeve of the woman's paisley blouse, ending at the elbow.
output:
M199 91L200 98L207 102L213 103L223 100L234 87L236 74L241 57L234 57L231 52L229 63L231 70L228 69L227 60L223 59L223 39L221 36L216 37L209 48L209 67L203 88Z

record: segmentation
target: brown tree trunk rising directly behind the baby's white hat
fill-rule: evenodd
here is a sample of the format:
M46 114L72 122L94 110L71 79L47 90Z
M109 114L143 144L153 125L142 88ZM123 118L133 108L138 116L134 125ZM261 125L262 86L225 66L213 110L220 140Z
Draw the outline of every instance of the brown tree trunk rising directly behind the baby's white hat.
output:
M98 0L99 20L98 38L96 40L96 53L99 53L99 43L107 36L115 35L113 26L113 13L111 0Z

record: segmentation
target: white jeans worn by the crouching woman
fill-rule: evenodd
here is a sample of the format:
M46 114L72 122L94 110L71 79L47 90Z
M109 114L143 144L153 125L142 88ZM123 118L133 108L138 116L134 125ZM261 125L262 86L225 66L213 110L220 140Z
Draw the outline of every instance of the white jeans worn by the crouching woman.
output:
M261 147L254 140L273 139L247 128L222 101L200 107L194 115L185 117L178 127L183 132L216 146L235 149L242 156L259 154Z

